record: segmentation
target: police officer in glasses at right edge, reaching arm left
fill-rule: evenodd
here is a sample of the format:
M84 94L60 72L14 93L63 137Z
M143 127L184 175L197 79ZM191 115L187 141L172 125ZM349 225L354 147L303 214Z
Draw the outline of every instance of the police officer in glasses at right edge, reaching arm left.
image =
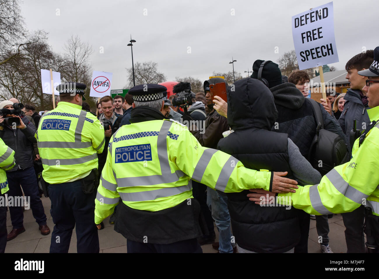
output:
M379 252L379 47L370 68L358 74L368 77L362 91L367 96L371 123L354 142L351 160L336 166L319 184L285 195L291 196L294 207L316 215L351 212L363 205L366 246L369 252Z

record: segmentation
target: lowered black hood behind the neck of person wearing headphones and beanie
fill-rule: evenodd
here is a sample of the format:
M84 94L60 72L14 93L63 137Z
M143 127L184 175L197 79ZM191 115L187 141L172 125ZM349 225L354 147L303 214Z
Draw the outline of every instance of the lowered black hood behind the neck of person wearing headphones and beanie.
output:
M298 110L305 102L304 95L293 83L286 82L270 88L275 104L291 110Z

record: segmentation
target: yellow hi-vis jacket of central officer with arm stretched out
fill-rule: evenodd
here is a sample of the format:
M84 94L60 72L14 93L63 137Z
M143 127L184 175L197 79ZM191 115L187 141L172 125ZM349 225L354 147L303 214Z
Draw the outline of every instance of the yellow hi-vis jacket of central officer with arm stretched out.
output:
M269 190L272 174L244 168L229 154L202 147L185 125L152 120L113 134L95 200L95 223L128 207L159 211L192 198L190 179L224 192Z

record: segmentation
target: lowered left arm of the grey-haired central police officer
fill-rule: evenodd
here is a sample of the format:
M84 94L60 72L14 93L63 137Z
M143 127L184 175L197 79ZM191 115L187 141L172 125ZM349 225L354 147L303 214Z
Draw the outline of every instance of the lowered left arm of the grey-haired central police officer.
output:
M103 132L104 136L104 132ZM113 137L110 143L113 142ZM117 183L113 175L112 154L109 152L106 157L105 165L100 176L100 184L97 188L95 199L95 224L100 224L106 217L111 215L114 207L119 203L120 195L117 193Z

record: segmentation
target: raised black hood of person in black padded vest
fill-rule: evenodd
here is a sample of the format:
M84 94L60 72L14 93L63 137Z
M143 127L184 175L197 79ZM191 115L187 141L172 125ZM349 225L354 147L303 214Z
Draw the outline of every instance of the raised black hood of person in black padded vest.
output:
M260 80L238 80L229 86L227 96L230 128L240 130L257 127L271 130L278 112L273 94Z

